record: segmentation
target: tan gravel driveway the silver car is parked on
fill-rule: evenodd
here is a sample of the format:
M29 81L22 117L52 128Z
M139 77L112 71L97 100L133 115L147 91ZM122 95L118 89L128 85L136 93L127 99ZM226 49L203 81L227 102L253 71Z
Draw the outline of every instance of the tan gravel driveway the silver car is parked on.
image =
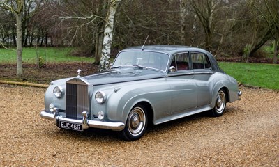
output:
M0 84L0 166L279 166L279 93L241 90L220 118L197 114L127 142L59 129L39 116L45 88Z

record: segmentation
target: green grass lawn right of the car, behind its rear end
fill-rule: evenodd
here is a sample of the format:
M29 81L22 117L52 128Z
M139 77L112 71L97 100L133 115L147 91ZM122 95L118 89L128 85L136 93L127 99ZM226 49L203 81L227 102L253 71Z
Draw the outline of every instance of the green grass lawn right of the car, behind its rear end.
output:
M218 64L242 84L279 90L279 65L227 62Z

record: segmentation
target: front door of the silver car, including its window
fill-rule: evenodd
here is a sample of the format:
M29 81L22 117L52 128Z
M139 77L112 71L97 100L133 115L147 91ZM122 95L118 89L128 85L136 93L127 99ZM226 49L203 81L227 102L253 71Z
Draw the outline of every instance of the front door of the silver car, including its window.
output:
M172 95L172 111L178 113L193 109L197 106L197 86L194 80L193 70L190 70L188 52L174 54L171 66L174 72L169 72L169 81Z

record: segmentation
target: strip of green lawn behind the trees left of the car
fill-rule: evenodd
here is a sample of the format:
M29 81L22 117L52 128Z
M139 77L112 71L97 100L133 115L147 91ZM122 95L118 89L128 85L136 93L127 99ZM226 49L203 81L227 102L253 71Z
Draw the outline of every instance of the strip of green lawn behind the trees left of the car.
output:
M39 48L38 55L46 61L46 63L71 63L71 62L88 62L93 63L93 58L70 56L70 51L75 48L70 47L47 47ZM35 47L23 48L23 63L36 63L37 50ZM0 63L16 63L16 52L8 49L0 49Z

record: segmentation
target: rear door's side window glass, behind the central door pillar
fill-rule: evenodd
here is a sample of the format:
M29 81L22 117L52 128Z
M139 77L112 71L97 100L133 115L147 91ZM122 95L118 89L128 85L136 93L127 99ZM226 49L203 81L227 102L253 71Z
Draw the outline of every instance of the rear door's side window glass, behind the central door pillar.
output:
M193 69L209 69L210 63L206 54L191 53Z

